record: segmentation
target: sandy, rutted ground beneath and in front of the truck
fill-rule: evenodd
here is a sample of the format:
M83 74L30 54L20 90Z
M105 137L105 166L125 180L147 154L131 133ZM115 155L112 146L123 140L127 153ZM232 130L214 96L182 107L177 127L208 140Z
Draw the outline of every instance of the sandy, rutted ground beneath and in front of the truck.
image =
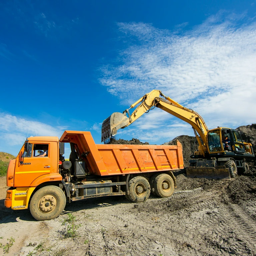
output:
M176 179L170 198L150 196L139 204L123 196L88 199L39 222L29 210L4 207L7 187L0 177L0 242L15 239L0 255L256 255L255 177ZM67 213L76 216L74 238L65 238Z

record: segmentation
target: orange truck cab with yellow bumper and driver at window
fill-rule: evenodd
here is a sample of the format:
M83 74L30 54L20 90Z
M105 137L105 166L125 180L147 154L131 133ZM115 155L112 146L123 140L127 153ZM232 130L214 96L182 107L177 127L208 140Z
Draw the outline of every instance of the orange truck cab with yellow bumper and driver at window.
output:
M40 156L43 151L45 156ZM16 159L11 160L7 170L7 191L5 206L12 209L27 209L35 188L47 182L59 183L59 141L58 137L30 137Z

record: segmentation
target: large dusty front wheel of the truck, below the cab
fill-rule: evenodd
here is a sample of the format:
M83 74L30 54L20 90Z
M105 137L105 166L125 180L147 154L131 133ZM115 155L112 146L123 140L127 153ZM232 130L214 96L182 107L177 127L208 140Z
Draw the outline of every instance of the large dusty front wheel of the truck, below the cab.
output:
M66 206L66 196L57 186L38 189L30 201L30 212L36 220L57 218Z

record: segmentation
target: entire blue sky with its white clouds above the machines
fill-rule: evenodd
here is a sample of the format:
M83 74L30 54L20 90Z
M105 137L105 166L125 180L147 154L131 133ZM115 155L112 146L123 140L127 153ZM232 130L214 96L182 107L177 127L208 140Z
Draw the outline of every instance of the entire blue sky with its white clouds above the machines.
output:
M256 1L1 1L0 151L90 131L152 89L208 128L255 123ZM156 109L117 138L162 144L186 123Z

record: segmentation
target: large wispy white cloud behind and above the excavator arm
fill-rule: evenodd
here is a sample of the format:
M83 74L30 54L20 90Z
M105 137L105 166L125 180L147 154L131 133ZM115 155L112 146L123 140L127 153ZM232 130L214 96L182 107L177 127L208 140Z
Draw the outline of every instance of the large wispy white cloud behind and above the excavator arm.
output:
M126 106L159 89L200 113L208 128L255 122L256 112L250 111L256 107L254 19L220 11L201 25L176 33L177 28L186 25L169 31L152 24L118 23L121 36L129 43L115 63L102 67L99 81ZM167 122L163 112L157 114L158 118L150 112L147 120L134 123L138 138L143 136L141 130L146 134L147 125L154 130L163 118L165 126L173 122ZM156 129L158 134L162 131L161 136L170 134L164 125ZM175 136L183 131L177 130Z

